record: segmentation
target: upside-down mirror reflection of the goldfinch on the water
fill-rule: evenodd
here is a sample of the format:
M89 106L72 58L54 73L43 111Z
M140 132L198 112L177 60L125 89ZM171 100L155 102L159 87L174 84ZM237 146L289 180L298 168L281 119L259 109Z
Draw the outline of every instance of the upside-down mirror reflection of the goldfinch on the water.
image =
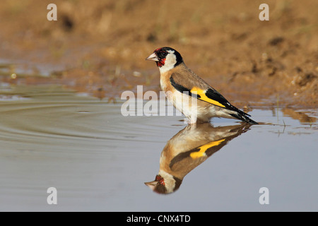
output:
M160 155L160 169L153 182L146 182L153 191L170 194L195 167L233 138L249 130L249 124L213 127L209 123L188 125L167 142Z

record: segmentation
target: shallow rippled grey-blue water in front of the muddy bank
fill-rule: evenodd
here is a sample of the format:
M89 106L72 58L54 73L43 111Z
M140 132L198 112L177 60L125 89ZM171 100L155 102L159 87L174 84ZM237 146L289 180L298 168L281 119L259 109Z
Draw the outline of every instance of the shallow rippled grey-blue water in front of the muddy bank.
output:
M0 210L318 210L316 109L254 109L259 125L186 128L182 116L123 117L121 107L60 86L1 85ZM171 194L144 184L164 148L184 176Z

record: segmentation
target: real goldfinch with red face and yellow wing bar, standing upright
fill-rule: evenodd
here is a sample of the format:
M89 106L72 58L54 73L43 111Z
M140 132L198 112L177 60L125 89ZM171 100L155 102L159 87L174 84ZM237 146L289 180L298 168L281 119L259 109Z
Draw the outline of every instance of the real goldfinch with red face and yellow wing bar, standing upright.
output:
M146 58L155 61L160 71L160 86L189 124L210 121L212 117L240 119L249 124L258 124L228 102L202 78L184 64L181 54L170 47L155 49Z

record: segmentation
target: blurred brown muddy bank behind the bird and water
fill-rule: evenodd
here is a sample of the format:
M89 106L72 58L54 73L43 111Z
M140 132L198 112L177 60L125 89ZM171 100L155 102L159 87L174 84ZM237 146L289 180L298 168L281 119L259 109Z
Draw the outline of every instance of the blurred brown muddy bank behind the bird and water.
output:
M50 3L57 21L47 20ZM259 20L262 3L269 21ZM169 46L238 107L317 107L317 0L4 0L0 29L8 83L60 83L110 100L136 85L159 91L145 58Z

